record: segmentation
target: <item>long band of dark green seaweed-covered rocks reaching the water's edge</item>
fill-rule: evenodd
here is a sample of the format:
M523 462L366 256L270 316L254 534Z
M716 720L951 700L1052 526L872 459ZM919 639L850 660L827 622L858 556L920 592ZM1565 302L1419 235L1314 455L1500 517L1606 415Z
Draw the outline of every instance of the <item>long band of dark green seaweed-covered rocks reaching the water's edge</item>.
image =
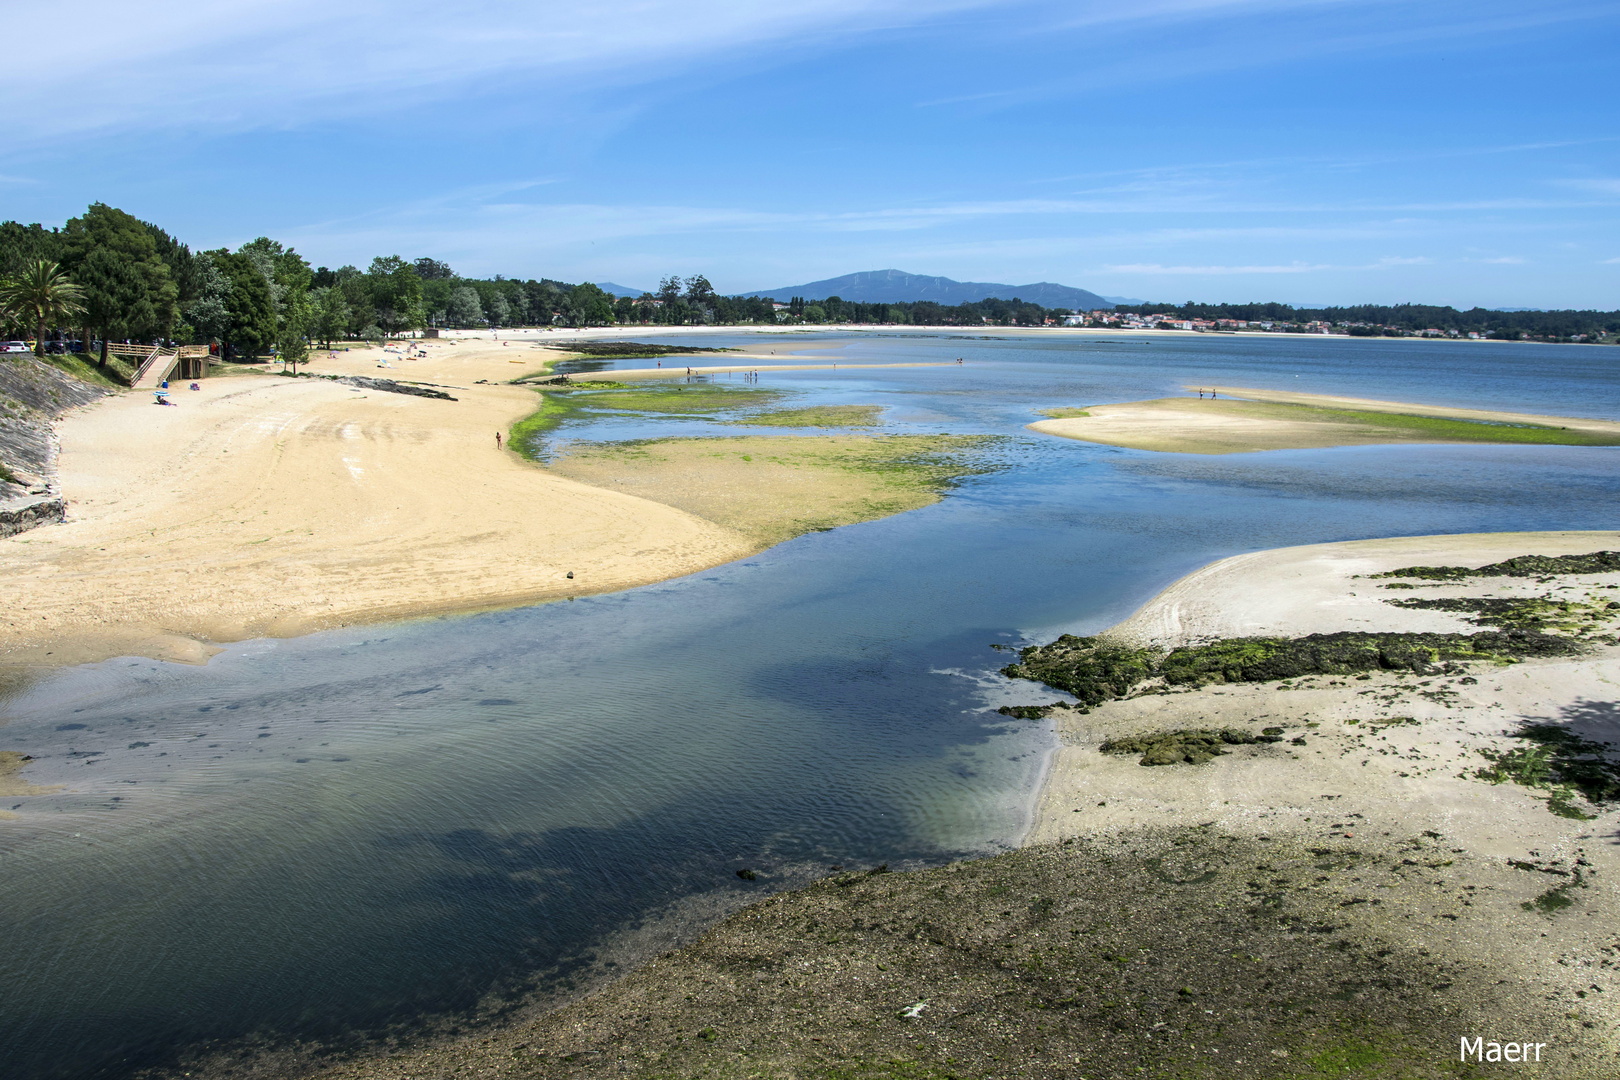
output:
M1584 648L1549 633L1526 630L1481 633L1312 633L1304 638L1226 638L1163 653L1110 638L1063 635L1032 644L1001 669L1064 690L1094 706L1124 698L1153 678L1171 687L1270 682L1301 675L1354 675L1372 670L1437 674L1440 661L1497 661L1531 656L1580 656Z

